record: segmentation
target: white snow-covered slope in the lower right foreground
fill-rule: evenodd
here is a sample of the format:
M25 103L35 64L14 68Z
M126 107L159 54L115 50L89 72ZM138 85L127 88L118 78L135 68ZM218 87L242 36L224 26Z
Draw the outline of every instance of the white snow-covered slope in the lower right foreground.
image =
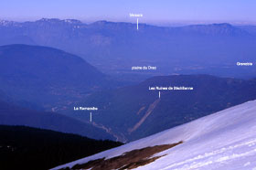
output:
M109 159L134 149L180 141L184 143L155 154L154 156L164 156L137 169L256 170L256 101L216 112L162 133L53 169L72 167L103 157Z

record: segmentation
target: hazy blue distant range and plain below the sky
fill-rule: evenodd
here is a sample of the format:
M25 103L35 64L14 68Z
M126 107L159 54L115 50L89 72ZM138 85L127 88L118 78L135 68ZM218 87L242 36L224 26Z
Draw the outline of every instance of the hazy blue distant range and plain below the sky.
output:
M256 62L256 28L229 24L155 27L131 23L40 19L0 22L0 45L29 44L59 48L90 61L106 73L131 73L132 66L154 65L150 74L209 73L253 77L256 69L236 63ZM219 71L221 70L221 71Z

